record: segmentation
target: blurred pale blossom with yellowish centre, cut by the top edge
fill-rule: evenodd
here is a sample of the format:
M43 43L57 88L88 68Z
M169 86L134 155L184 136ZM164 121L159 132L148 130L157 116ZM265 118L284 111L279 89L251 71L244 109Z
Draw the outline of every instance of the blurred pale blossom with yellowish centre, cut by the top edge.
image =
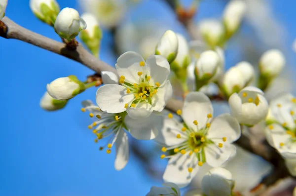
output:
M85 12L93 14L104 28L119 24L126 11L126 0L79 0Z

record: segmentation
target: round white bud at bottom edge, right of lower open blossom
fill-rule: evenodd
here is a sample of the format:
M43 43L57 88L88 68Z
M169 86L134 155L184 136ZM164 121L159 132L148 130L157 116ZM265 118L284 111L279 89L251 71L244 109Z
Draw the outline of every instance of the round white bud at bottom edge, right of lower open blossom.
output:
M201 181L201 189L206 196L230 196L233 187L232 174L222 167L210 169Z

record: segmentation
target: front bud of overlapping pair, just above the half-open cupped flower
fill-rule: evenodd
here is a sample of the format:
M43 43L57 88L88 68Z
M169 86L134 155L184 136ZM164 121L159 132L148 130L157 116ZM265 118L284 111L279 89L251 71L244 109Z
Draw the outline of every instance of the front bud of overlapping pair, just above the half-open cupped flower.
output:
M227 96L239 92L245 86L243 73L237 67L230 68L222 79L222 87Z

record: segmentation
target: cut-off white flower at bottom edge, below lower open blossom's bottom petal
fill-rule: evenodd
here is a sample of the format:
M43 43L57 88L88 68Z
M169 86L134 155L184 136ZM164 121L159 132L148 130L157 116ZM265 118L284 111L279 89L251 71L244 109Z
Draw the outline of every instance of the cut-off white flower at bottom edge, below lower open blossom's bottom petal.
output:
M152 186L146 196L181 196L179 187L174 183L163 183L164 187Z

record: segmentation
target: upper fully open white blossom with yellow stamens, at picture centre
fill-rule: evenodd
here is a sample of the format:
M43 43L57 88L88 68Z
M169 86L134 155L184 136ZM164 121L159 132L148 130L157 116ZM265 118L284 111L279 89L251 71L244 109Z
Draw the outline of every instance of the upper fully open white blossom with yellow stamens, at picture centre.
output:
M131 118L147 118L153 111L161 112L172 96L168 61L151 55L146 62L136 52L122 54L115 65L119 84L106 84L97 91L101 110L108 113L127 111Z

